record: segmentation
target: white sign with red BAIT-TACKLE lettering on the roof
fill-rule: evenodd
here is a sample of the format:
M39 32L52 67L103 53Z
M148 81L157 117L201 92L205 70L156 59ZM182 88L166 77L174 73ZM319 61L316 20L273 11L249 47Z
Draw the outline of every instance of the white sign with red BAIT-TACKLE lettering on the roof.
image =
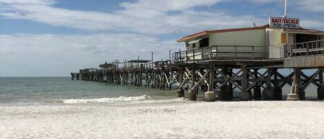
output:
M299 28L299 19L296 18L283 18L283 17L270 17L270 28Z

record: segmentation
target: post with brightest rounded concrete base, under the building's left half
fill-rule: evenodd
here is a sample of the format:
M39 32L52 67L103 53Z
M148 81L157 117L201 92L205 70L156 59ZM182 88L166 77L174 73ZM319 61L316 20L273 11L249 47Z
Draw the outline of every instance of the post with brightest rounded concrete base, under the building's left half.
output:
M204 93L204 101L205 102L215 102L216 101L216 93L213 91L214 75L215 75L214 65L211 64L210 69L209 69L208 91Z

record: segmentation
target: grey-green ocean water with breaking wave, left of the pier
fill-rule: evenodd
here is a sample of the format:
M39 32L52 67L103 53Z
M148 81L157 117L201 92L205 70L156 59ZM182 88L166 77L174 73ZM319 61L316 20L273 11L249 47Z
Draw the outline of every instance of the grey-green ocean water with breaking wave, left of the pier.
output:
M0 105L80 104L172 100L175 91L70 77L0 77Z

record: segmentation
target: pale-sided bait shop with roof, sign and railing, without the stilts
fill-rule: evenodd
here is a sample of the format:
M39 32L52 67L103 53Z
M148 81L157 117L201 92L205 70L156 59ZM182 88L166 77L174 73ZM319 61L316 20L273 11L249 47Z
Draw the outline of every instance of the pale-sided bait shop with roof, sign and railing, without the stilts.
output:
M285 25L285 28L283 28ZM204 30L178 39L184 42L182 59L277 59L287 57L285 44L324 39L324 32L301 28L299 19L270 17L269 24L251 28ZM312 48L321 48L314 44ZM298 46L306 47L306 46ZM212 55L210 55L212 54ZM179 58L178 55L178 58ZM175 55L177 57L177 55Z

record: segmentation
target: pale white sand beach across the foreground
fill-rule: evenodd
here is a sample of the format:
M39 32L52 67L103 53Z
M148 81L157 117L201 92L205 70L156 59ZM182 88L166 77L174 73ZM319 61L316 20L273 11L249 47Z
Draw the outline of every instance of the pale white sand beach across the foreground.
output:
M135 105L2 106L0 138L324 138L324 102Z

